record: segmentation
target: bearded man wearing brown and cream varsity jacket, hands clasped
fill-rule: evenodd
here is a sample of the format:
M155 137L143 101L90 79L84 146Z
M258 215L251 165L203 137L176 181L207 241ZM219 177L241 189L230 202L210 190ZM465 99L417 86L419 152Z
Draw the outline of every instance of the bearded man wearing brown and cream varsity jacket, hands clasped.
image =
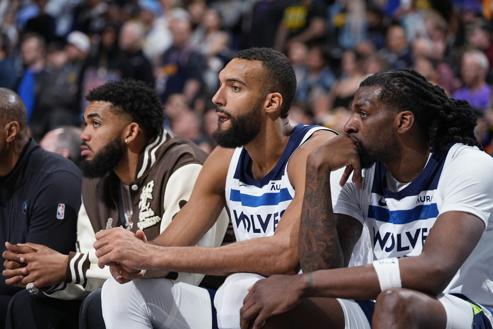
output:
M60 314L62 318L67 315L66 318L77 319L73 313L78 312L81 302L72 300L85 298L111 276L108 267L98 267L92 248L95 232L123 226L136 233L136 239L147 236L153 240L187 202L206 158L191 141L171 138L163 130L159 99L154 89L141 82L109 82L91 90L86 98L90 103L84 113L86 128L81 135L81 169L85 178L77 223L77 252L63 255L30 243L7 246L10 253L7 252L6 259L11 269L6 276L17 276L18 283L33 282L36 288L44 290L44 294L36 297L29 296L27 291L14 297L7 319L11 327L29 327L33 323L39 326L39 317L33 316L37 304L43 304L40 307L48 314L46 323L52 323ZM224 209L217 215L217 223L204 232L198 246L221 244L229 218ZM136 277L139 275L135 272ZM203 275L183 272L170 273L169 277L194 285L203 279ZM71 301L52 306L53 298ZM34 306L26 306L26 301ZM70 303L75 305L66 307ZM47 304L53 309L52 314L45 312ZM100 304L96 291L82 302L81 327L104 325L102 318L100 321L94 316L94 310L101 313Z

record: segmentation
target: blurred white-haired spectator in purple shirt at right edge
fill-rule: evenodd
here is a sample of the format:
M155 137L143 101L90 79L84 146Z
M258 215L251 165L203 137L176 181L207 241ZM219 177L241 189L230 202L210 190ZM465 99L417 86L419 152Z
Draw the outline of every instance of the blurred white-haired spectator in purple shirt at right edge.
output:
M466 100L476 111L484 112L491 106L491 86L485 80L488 69L488 59L482 51L466 51L461 62L464 86L450 97Z

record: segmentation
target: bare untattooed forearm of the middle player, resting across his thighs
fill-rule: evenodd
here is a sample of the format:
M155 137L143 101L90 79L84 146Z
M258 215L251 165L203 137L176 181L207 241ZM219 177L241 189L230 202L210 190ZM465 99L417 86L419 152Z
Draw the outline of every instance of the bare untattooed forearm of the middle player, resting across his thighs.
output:
M156 275L168 271L229 275L253 272L263 276L295 274L298 271L296 246L270 242L260 237L218 248L152 246L146 269ZM289 240L289 239L286 239Z

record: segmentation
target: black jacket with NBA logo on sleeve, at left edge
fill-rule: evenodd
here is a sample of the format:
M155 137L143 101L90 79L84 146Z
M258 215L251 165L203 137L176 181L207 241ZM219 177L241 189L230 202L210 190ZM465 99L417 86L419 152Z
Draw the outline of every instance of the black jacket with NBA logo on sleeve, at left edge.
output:
M30 139L12 171L0 177L2 244L32 242L64 254L75 250L81 180L79 168L71 161L43 150ZM19 290L0 280L0 295Z

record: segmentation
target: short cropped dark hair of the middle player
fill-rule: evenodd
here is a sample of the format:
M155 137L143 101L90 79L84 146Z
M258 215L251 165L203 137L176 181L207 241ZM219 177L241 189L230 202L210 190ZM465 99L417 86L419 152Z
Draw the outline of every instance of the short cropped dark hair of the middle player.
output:
M268 93L281 94L280 117L287 118L296 93L296 76L286 55L272 48L254 47L238 51L234 58L262 62L267 73L262 81L262 88Z

